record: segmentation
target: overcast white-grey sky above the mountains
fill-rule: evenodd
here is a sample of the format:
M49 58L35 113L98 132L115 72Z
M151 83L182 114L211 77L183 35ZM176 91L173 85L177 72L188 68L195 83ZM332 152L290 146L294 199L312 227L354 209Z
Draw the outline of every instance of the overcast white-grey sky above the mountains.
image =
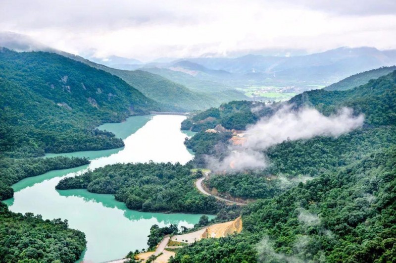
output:
M0 31L97 57L396 49L396 0L0 0Z

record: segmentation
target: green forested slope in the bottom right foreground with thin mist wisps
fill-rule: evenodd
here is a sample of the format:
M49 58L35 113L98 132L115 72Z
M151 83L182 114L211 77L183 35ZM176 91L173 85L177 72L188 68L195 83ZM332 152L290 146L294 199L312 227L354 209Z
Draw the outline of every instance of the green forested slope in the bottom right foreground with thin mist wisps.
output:
M240 235L205 239L171 262L395 262L396 148L243 210Z

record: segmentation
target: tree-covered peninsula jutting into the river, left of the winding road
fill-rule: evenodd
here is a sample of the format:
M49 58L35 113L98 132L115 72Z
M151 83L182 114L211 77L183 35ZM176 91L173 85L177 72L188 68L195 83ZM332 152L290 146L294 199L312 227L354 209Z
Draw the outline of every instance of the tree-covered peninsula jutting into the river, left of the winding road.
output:
M198 192L194 186L197 174L191 172L192 168L191 164L170 162L118 163L64 178L56 189L86 188L93 193L113 194L133 210L217 212L223 204Z

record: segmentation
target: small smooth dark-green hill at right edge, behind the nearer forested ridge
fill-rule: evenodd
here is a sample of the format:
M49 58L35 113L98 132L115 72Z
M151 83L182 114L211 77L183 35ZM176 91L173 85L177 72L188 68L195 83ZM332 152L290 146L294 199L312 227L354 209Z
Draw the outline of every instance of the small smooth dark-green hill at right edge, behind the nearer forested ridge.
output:
M334 90L348 90L354 87L358 87L360 85L366 84L371 79L377 79L381 76L384 76L392 71L396 70L396 66L392 67L380 67L377 69L368 70L365 72L361 72L352 76L349 76L337 83L331 84L330 86L325 87L325 90L334 91Z

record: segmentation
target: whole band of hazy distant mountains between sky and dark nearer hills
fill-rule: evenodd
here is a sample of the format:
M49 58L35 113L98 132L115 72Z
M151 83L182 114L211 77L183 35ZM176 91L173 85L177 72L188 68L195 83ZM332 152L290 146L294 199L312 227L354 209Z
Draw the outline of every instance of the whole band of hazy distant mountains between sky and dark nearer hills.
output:
M331 84L350 75L396 64L396 50L380 51L370 47L342 47L313 54L280 50L254 52L256 54L234 58L159 58L143 63L115 55L107 58L90 55L90 61L51 49L27 36L9 32L0 33L0 46L17 51L49 51L87 63L123 78L165 109L178 111L252 99L247 96L254 96L257 100L261 97L268 99L270 97L265 93L269 89L273 94L297 94L326 86L331 89ZM298 55L289 56L290 54ZM151 74L145 74L144 71ZM378 76L373 75L374 78ZM366 79L362 78L361 82L356 83L364 84ZM177 91L177 95L171 95L174 91ZM253 93L258 95L252 95Z

